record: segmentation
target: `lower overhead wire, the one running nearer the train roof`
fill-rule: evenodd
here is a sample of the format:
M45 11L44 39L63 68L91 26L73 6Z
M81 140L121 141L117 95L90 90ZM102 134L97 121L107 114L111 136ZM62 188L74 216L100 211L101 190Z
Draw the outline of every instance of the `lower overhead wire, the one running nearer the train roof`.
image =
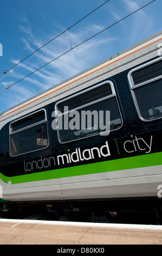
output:
M82 44L84 44L85 42L89 41L90 39L94 38L96 35L99 35L100 33L102 33L102 32L104 32L104 31L106 31L108 28L111 28L111 27L113 27L114 25L116 25L117 23L119 23L119 22L121 22L121 21L125 20L127 17L129 17L129 16L131 16L131 15L133 15L133 14L137 13L137 11L139 11L139 10L141 10L141 9L145 8L147 5L149 5L149 4L153 3L153 2L155 2L155 0L153 0L153 1L151 1L150 3L148 3L148 4L144 5L144 6L142 6L141 8L139 8L139 9L137 9L137 10L133 11L133 13L131 13L131 14L129 14L129 15L127 15L127 16L125 16L124 18L122 18L122 19L121 19L121 20L119 20L119 21L116 21L115 23L113 23L113 24L112 24L112 25L110 25L109 27L107 27L107 28L103 29L102 31L100 31L100 32L96 33L95 35L91 36L90 38L86 39L85 41L81 42L80 44L78 44L78 45L74 46L73 48L70 48L68 51L66 51L66 52L62 53L60 56L56 57L56 58L55 58L55 59L53 59L53 60L50 60L50 62L48 62L48 63L44 64L43 66L41 66L40 68L38 68L38 69L36 69L35 71L31 72L31 73L30 73L30 74L28 74L27 76L24 76L23 78L21 78L21 79L20 79L20 80L18 80L17 82L15 82L15 83L11 84L10 86L8 86L7 88L3 89L0 93L4 92L4 90L9 89L11 86L14 86L16 83L18 83L18 82L20 82L20 81L24 80L24 79L25 79L25 78L27 78L28 76L30 76L30 75L32 75L32 74L34 74L36 71L38 71L38 70L40 70L40 69L44 68L44 66L47 66L47 65L48 65L48 64L50 64L51 62L54 62L54 60L56 60L56 59L58 59L58 58L62 57L64 54L67 54L68 52L70 52L70 51L74 50L76 47L79 47L80 45L82 45Z

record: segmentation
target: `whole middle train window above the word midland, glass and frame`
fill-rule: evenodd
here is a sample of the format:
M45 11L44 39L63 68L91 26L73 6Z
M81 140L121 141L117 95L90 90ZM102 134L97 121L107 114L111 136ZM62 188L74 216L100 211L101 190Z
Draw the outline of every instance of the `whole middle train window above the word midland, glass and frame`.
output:
M57 133L66 143L89 136L108 135L122 125L111 81L103 82L57 102ZM108 128L108 129L107 129Z

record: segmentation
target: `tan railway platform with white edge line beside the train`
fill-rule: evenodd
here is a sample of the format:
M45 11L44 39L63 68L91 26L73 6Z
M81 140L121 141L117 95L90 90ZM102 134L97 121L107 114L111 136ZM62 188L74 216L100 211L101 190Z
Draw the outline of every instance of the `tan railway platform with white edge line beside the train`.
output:
M161 225L0 219L0 245L61 245L63 250L63 245L161 244Z

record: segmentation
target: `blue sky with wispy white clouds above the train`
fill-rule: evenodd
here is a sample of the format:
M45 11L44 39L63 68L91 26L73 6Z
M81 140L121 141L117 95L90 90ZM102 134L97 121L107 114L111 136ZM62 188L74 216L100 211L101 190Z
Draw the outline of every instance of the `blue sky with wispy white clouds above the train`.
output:
M7 0L0 7L0 75L106 0ZM21 64L0 76L0 91L151 0L109 0ZM162 0L148 5L0 93L0 113L162 30ZM70 42L71 39L71 42Z

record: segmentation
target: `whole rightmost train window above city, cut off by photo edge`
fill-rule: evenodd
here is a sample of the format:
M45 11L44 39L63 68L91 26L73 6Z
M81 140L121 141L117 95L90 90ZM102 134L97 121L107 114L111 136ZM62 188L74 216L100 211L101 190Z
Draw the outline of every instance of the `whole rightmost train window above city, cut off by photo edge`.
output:
M129 72L132 94L142 120L162 117L162 59Z

